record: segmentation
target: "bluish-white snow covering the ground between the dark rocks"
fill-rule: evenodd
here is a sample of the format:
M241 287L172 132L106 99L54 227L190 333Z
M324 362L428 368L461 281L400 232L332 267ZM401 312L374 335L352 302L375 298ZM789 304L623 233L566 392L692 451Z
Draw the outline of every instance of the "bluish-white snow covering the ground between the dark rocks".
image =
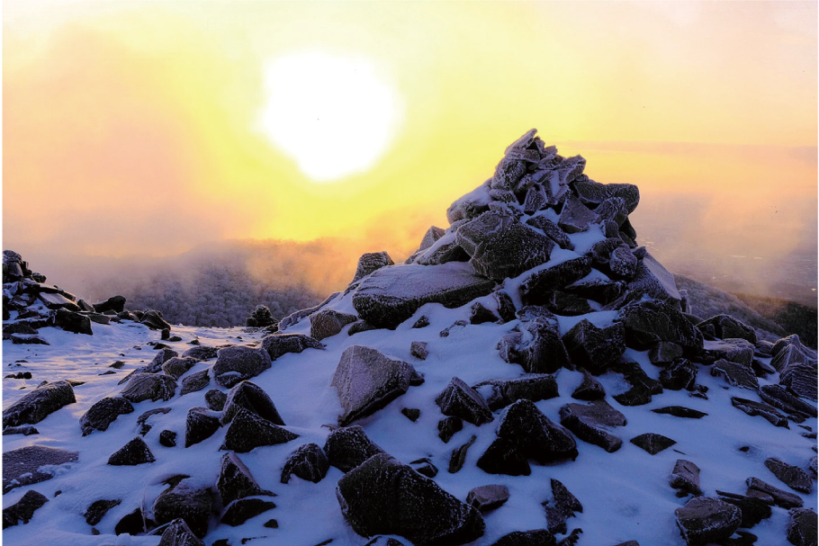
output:
M582 247L590 245L592 239L602 237L592 230L572 236L575 245L581 247L581 252ZM544 267L575 256L574 252L555 249L552 260ZM450 267L457 268L458 265ZM513 298L517 298L517 282L519 279L507 281L506 288ZM351 298L352 294L337 298L328 309L351 312ZM492 305L489 297L481 301L487 307ZM298 478L291 479L287 485L279 483L287 456L304 443L323 446L329 429L322 425L337 423L342 408L330 381L341 354L351 345L373 347L390 358L411 363L426 379L422 385L410 388L406 394L374 415L356 421L357 425L365 428L374 443L404 463L428 457L439 469L435 479L437 484L462 500L470 489L477 486L500 484L509 488L509 502L484 515L486 534L474 542L479 545L491 544L503 534L513 531L544 528L545 512L541 503L551 496L549 479L563 482L583 505L583 512L567 522L569 531L575 527L582 528L578 542L580 546L614 544L626 540L637 540L642 544L682 545L684 542L674 523L674 510L683 506L686 499L675 497L674 490L669 486L671 470L677 459L695 462L701 469L701 486L705 494L715 496L716 489L744 493L744 481L752 476L788 490L765 468L764 461L777 457L806 468L814 455L811 446L815 445L815 440L802 437L800 433L805 432L803 429L797 425L791 425L790 430L779 428L762 417L745 415L731 406L730 398L755 395L747 390L725 389L727 386L723 380L711 377L705 367L698 366L698 382L709 388L708 400L691 398L684 390L666 390L662 395L655 396L648 406L621 407L611 396L627 389L622 376L608 372L599 377L607 390L609 403L627 419L626 426L612 431L624 440L619 451L607 453L598 446L578 441L580 455L576 461L550 466L533 464L529 477L486 474L475 463L495 439L500 413L496 412L494 422L480 427L464 423L464 429L455 434L449 443L442 443L437 436L437 422L443 416L435 398L453 377L474 385L482 380L516 378L522 373L518 365L503 362L496 349L500 338L509 333L517 321L506 325L487 323L456 327L449 336L439 336L442 329L456 320L468 320L471 303L457 309L446 309L436 303L426 304L392 332L382 329L347 336L349 327L345 327L337 336L323 340L327 345L325 350L308 349L301 354L284 354L275 360L270 369L253 378L252 381L273 399L286 428L300 437L289 443L260 447L239 455L260 487L277 494L274 499L276 508L237 528L218 525L214 517L205 542L211 544L227 538L232 544L238 544L245 537L267 537L249 544L275 540L276 543L294 546L311 546L330 538L334 539L334 544L341 545L366 542L352 531L341 515L335 493L336 483L342 476L340 470L331 468L328 476L318 484ZM421 315L429 318L430 326L412 328ZM604 311L591 313L585 318L598 327L606 327L616 317L615 311ZM565 333L582 318L558 317L561 332ZM310 320L307 318L288 328L288 333L309 334L309 331ZM180 354L190 348L191 345L185 342L194 337L198 337L202 345L251 345L260 341L263 335L263 332L242 328L181 326L174 327L173 333L184 341L168 345ZM211 380L208 388L184 397L177 395L167 402L160 400L134 404L135 411L119 416L107 432L94 431L83 437L80 417L96 400L116 395L122 389L122 386L117 386L117 381L125 374L150 362L156 353L145 344L158 341L159 333L125 322L107 327L94 325L94 336L75 335L55 328L43 328L40 335L51 345L12 345L4 342L4 369L7 372L31 371L33 374L31 380L4 380L4 407L30 392L42 380L82 380L85 384L75 388L76 404L63 407L36 425L40 434L4 436L3 449L9 451L25 445L48 445L79 452L79 460L58 467L54 479L17 488L4 497L5 506L16 502L30 489L40 491L49 498L49 503L35 513L30 524L5 530L4 539L9 544L19 546L102 546L112 543L156 546L158 536L122 535L115 538L113 527L135 507L149 508L166 487L162 481L175 474L190 475L192 486L215 488L222 455L219 448L225 428L190 448L185 449L182 443L184 416L188 409L205 406L205 392L219 388L218 385ZM242 339L238 340L238 336ZM428 344L429 354L425 361L410 355L413 341ZM628 349L624 358L640 363L654 379L659 377L660 368L648 361L646 353ZM27 362L16 363L21 360ZM99 375L112 370L108 365L117 360L125 363L121 370L112 375ZM206 369L211 363L197 363L181 379ZM561 370L555 377L561 396L541 400L536 402L536 406L545 416L558 423L559 408L563 404L576 402L570 396L581 383L582 375L578 371ZM777 379L777 375L773 374L768 380L761 380L761 383L768 384ZM698 409L708 416L684 419L649 411L672 405ZM112 452L139 434L138 417L156 407L171 408L167 414L152 416L148 421L153 428L145 436L145 441L157 461L136 467L109 466L107 460ZM401 415L403 407L419 408L421 414L418 421L410 422ZM803 425L816 430L816 419L808 419ZM163 429L178 434L175 448L166 448L158 443L158 435ZM652 456L628 442L638 434L650 432L666 435L677 443ZM473 434L478 439L469 449L463 470L456 474L448 473L452 451ZM751 449L738 451L743 445L751 446ZM58 490L62 494L54 497ZM805 506L816 505L815 493L798 495L805 501ZM101 498L121 498L122 502L96 525L102 534L92 536L83 514L92 502ZM278 529L263 526L270 518L278 521ZM751 531L760 537L760 544L782 543L787 521L787 511L774 507L771 518L763 520Z

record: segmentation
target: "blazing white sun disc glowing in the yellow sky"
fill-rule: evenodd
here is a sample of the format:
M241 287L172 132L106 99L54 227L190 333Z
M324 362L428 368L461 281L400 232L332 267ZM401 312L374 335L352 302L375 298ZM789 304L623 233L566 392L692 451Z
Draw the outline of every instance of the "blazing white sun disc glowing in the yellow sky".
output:
M280 58L266 68L265 85L262 130L317 183L374 166L401 121L401 97L363 59Z

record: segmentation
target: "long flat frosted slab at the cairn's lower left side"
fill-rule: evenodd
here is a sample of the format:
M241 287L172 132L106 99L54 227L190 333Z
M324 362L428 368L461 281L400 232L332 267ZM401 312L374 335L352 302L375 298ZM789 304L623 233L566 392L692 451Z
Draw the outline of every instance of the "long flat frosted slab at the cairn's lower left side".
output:
M362 281L353 293L353 307L370 324L395 328L425 303L452 309L489 294L494 286L462 264L396 265Z

